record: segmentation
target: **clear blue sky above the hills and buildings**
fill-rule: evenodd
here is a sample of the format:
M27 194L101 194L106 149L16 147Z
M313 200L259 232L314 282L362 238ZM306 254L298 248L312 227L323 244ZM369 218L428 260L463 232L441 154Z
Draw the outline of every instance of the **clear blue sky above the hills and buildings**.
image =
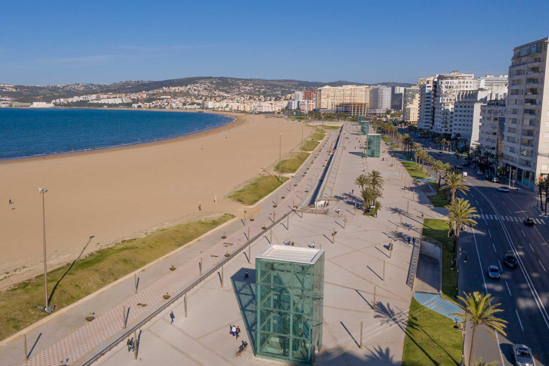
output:
M547 36L549 7L536 0L6 1L0 82L416 82L507 74L513 47Z

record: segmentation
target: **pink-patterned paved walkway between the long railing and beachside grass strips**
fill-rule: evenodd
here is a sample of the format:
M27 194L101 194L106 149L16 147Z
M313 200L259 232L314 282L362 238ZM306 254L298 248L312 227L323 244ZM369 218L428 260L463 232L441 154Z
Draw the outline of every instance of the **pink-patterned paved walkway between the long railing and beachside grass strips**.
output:
M295 201L297 204L302 201L305 188L310 187L310 177L315 184L316 168L322 168L327 150L336 138L337 133L329 133L326 137L327 144L322 151L319 146L302 165L302 170L296 172L295 178L286 182L283 188L272 195L280 197L282 192L285 192L286 198L278 200L276 209L272 207L271 200L266 199L260 205L265 213L257 215L255 221L248 221L246 227L243 226L243 222L237 221L221 229L220 231L227 232L226 239L219 239L221 232L212 233L191 247L156 263L139 275L137 294L133 294L133 279L128 279L37 327L27 334L27 347L31 356L27 363L23 363L22 339L16 339L0 347L0 359L3 364L58 365L61 359L67 358L70 365L86 362L89 357L126 333L126 330L122 329L123 306L126 309L126 328L130 329L165 302L161 296L166 292L170 295L177 294L200 277L200 258L203 262L203 272L207 272L224 258L226 252L233 252L248 241L248 230L249 235L254 237L262 232L262 226L270 226L273 213L276 220L290 211L292 202ZM311 165L310 162L318 151L321 151L320 157ZM306 170L307 166L311 166L309 173ZM305 174L305 177L301 177L301 174ZM295 181L298 181L298 185L290 186ZM173 272L169 271L171 264L177 267ZM96 319L87 323L84 318L91 312L95 313Z

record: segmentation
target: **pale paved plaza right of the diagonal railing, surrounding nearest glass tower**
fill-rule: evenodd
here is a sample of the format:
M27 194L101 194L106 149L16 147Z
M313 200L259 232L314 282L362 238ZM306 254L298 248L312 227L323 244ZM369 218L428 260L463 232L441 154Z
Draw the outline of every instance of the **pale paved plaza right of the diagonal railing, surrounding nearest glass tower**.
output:
M356 126L348 126L349 140L357 135ZM353 130L354 129L354 130ZM436 212L422 205L427 197L417 189L412 193L401 188L398 174L388 168L388 162L368 159L369 170L379 170L385 179L383 209L378 218L355 215L355 201L360 200L353 184L365 169L363 158L352 140L345 143L339 168L332 170L329 179L335 179L334 196L341 198L330 205L329 215L292 213L289 227L286 222L273 229L273 244L293 240L296 246L311 246L326 251L324 269L323 345L317 357L318 364L327 365L385 365L399 364L402 357L404 330L412 291L407 283L411 264L412 244L407 236L416 237L419 244L422 221ZM352 147L351 147L352 145ZM335 162L334 162L335 164ZM338 165L336 165L338 166ZM330 185L328 185L330 187ZM355 189L355 194L352 194ZM327 191L329 192L329 190ZM406 205L410 204L409 213ZM340 208L340 214L335 209ZM400 213L402 223L400 223ZM346 218L346 222L344 219ZM333 230L337 231L332 240ZM396 238L396 240L395 240ZM389 254L388 244L394 243ZM252 257L270 246L262 237L252 246ZM389 258L389 256L391 258ZM383 264L385 263L385 274ZM244 280L244 271L250 278ZM188 296L188 317L184 317L183 303L177 302L158 318L149 322L138 335L138 360L144 364L198 364L198 365L265 365L278 362L253 356L255 340L255 262L248 263L245 254L239 255L224 268L227 278L221 287L220 276L210 277ZM373 294L376 288L376 308ZM170 324L169 313L176 319ZM363 322L360 349L360 323ZM234 339L228 333L229 325L239 325L242 337ZM249 343L248 350L237 358L241 341ZM105 354L100 365L132 365L133 354L125 344ZM281 364L281 363L278 363Z

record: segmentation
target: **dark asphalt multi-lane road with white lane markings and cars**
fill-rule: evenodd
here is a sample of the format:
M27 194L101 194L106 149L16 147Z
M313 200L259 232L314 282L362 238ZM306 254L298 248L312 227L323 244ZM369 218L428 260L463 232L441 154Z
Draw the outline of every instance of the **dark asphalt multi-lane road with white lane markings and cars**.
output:
M436 159L453 165L464 162L451 153L439 155L438 151L430 150ZM463 171L468 173L470 190L458 196L477 207L481 217L476 226L460 235L461 249L467 252L467 262L461 256L460 291L489 292L494 296L492 304L501 303L500 308L505 310L497 316L508 322L507 336L498 334L497 340L484 330L478 331L475 359L483 357L484 362L513 365L511 345L518 343L531 348L536 365L549 366L549 246L545 239L549 225L535 207L538 196L525 189L498 192L496 188L502 184L478 176L473 167L464 167ZM525 217L535 218L535 226L525 226ZM502 267L506 253L517 257L517 268ZM502 270L499 280L488 278L490 265ZM471 332L467 330L468 351Z

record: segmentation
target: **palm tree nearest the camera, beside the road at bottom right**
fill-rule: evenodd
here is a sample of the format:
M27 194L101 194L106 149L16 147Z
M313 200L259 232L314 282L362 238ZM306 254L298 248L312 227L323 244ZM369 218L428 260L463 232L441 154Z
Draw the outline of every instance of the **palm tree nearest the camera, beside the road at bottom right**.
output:
M457 298L463 302L463 305L458 304L458 306L465 312L461 313L452 313L448 314L451 316L458 316L464 318L465 322L470 322L473 328L473 336L471 339L471 350L469 352L469 362L468 365L473 364L473 354L475 351L475 337L477 336L477 328L481 325L488 333L496 338L494 330L503 335L507 335L503 328L506 327L504 323L507 323L505 320L496 318L495 313L503 311L503 309L498 309L497 307L501 303L495 305L490 305L490 302L494 300L494 297L490 294L480 294L480 292L475 291L473 294L465 294L465 297L458 296ZM492 330L494 329L494 330Z

